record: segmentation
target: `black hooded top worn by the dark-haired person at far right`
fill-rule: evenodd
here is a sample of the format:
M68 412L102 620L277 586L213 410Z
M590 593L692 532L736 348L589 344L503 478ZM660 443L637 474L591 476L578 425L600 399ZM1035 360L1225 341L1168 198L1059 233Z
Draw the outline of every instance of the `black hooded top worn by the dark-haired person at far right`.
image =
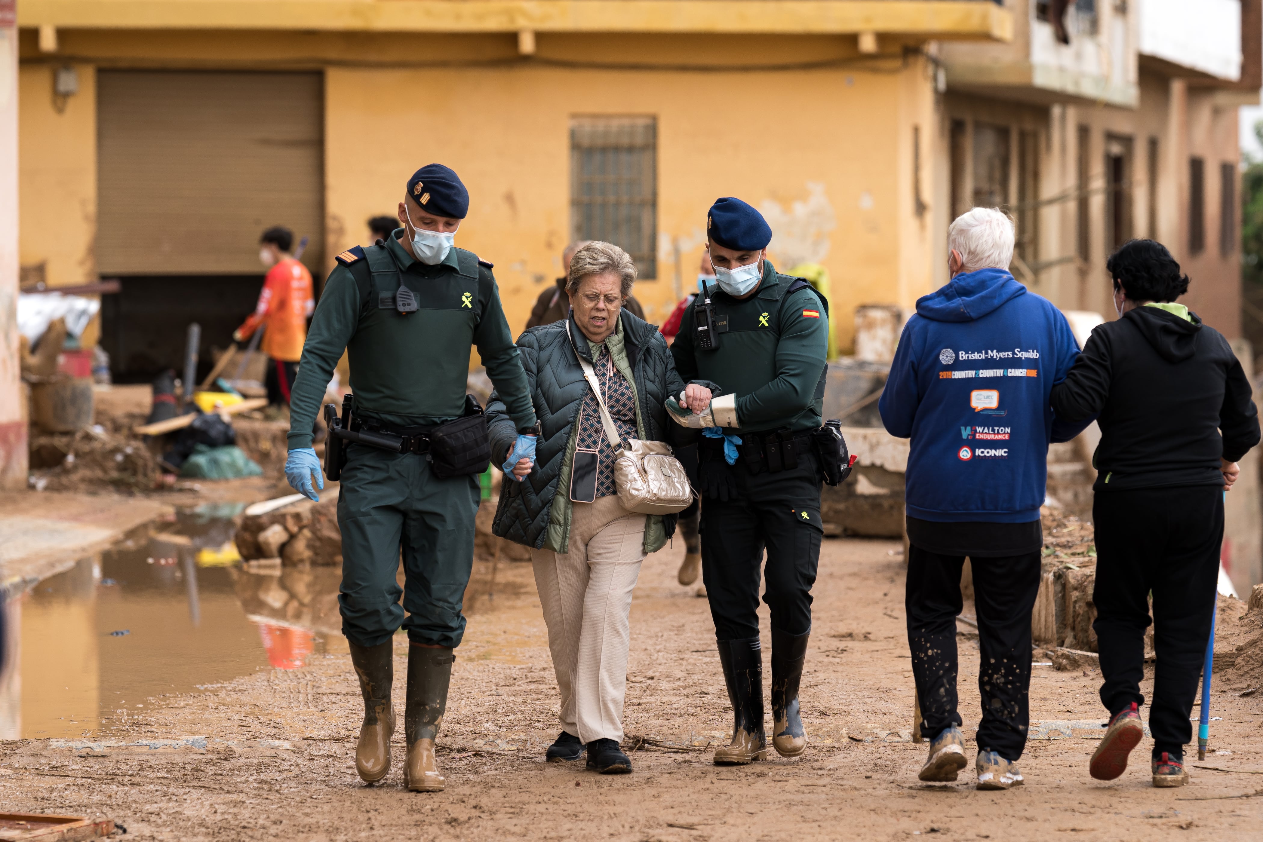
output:
M1190 313L1137 307L1092 329L1052 409L1098 415L1096 491L1221 485L1259 442L1250 382L1228 340Z

